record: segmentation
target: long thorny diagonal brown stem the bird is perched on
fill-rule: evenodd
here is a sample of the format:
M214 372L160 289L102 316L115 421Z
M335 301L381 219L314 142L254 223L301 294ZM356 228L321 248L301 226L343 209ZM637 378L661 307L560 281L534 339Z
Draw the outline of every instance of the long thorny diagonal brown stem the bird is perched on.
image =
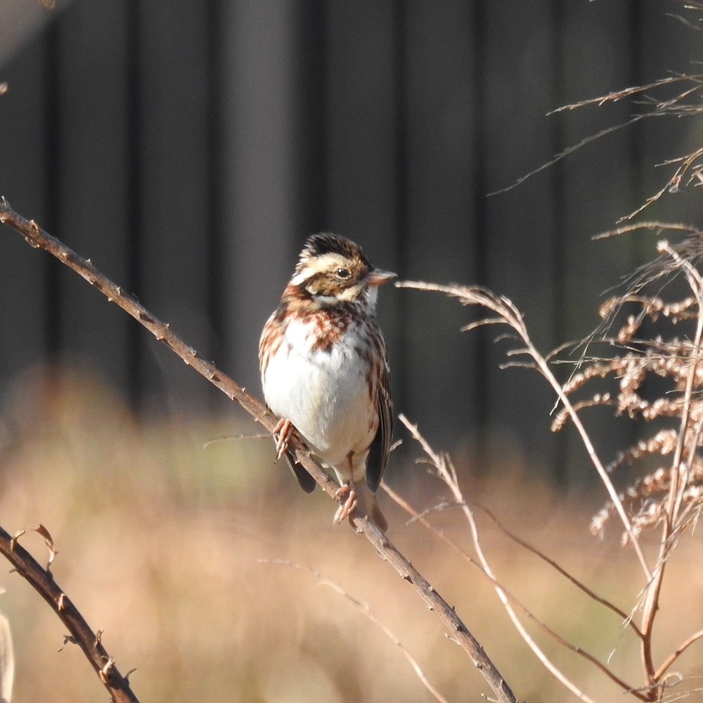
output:
M207 378L209 382L217 386L228 397L236 400L254 420L266 427L266 430L273 432L278 418L262 405L257 399L245 392L236 382L228 378L214 364L202 359L200 354L192 347L189 347L179 337L174 335L169 325L157 320L134 298L125 294L122 288L112 283L106 276L96 269L91 262L79 256L68 247L63 245L58 239L42 231L33 220L27 220L14 212L4 198L0 199L0 222L11 226L25 237L27 243L32 247L41 247L53 254L59 261L63 262L71 269L79 273L91 285L103 292L110 302L115 302L124 311L127 311L139 323L144 325L158 341L164 342L170 349L178 354L183 361L192 366L198 373ZM337 496L339 484L314 460L311 452L299 440L295 434L291 437L290 450L295 459L310 473L320 484L323 490L338 501L343 501L342 496ZM358 515L357 515L358 512ZM437 613L437 617L444 626L449 629L451 636L463 648L470 657L482 676L491 686L494 694L500 703L516 703L515 695L508 682L505 681L500 671L491 662L483 647L472 636L465 624L458 617L444 598L434 590L430 583L415 567L409 562L399 550L390 543L378 527L370 522L361 510L357 510L354 515L354 527L356 531L363 533L368 541L375 546L380 556L385 559L396 570L398 574L420 595L430 610Z

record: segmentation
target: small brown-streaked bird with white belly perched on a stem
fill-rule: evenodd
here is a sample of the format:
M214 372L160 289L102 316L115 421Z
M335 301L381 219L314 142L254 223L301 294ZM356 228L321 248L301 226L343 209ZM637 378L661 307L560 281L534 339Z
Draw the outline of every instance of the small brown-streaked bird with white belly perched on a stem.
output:
M347 494L333 524L347 517L353 524L358 505L384 532L375 493L391 449L393 406L376 301L378 286L395 277L351 240L314 234L259 342L264 399L280 418L276 458L287 454L302 489L314 490L314 478L287 452L295 427L337 475L337 498Z

